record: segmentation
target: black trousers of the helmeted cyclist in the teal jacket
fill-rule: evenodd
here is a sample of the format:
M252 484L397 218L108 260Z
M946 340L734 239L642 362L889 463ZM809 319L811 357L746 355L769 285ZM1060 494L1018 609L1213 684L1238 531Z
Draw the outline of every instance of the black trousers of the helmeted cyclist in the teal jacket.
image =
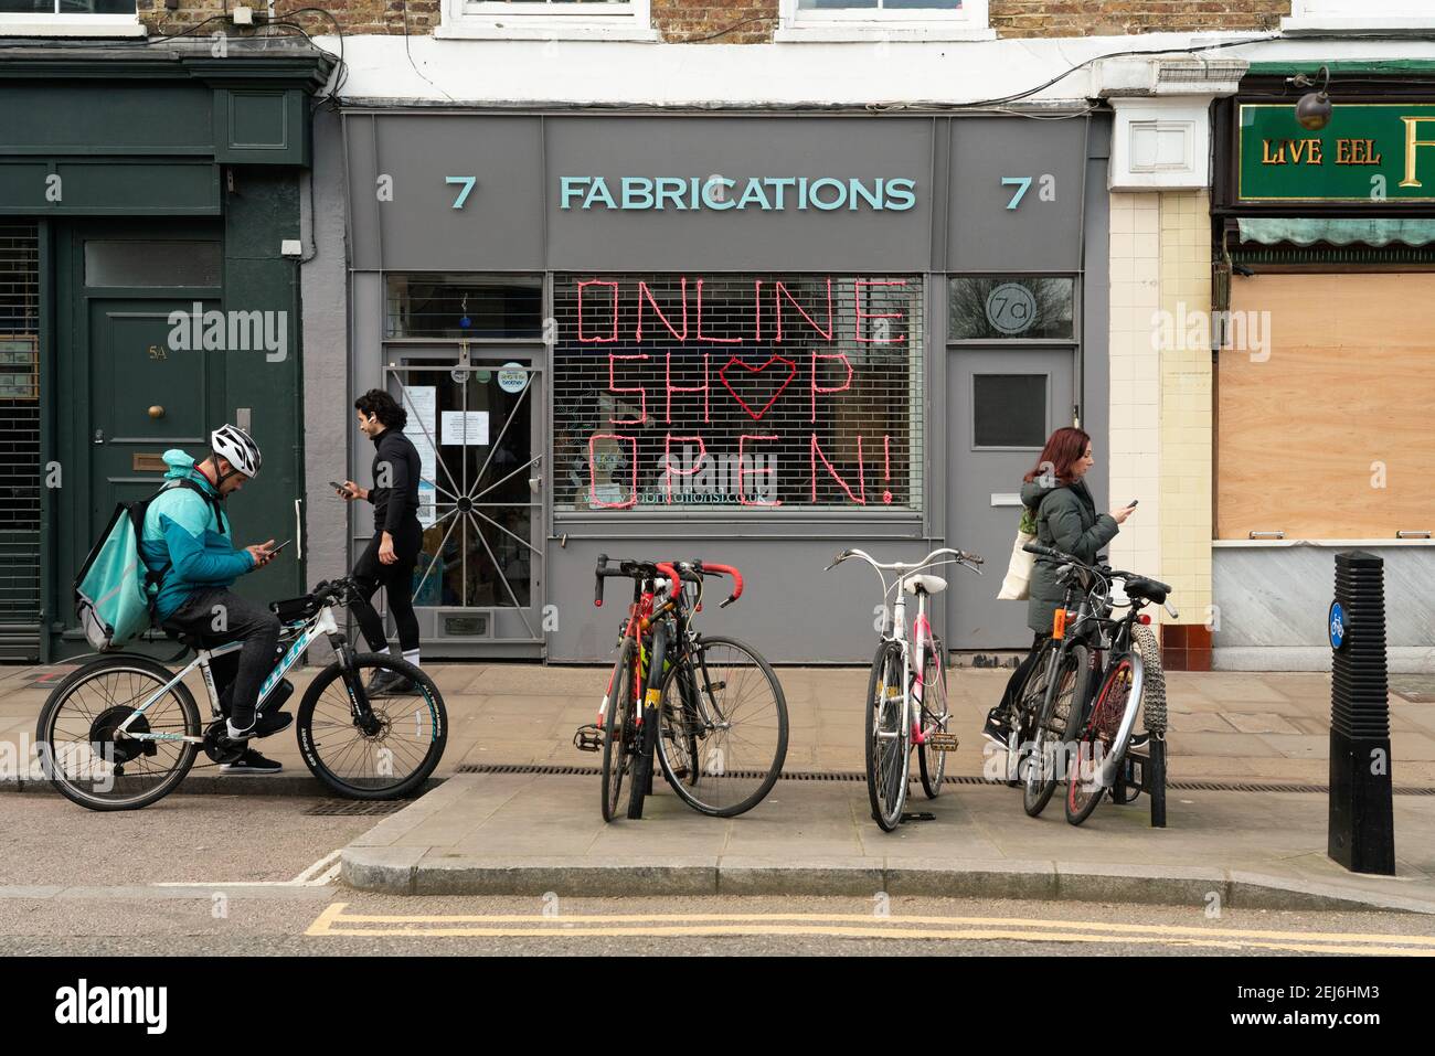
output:
M238 729L254 725L254 704L260 686L274 670L274 649L278 644L278 617L253 601L245 601L222 587L198 590L165 620L205 646L243 641L238 653L215 657L210 670L214 686L228 696L228 715ZM277 693L278 690L274 690ZM274 699L274 693L270 699Z

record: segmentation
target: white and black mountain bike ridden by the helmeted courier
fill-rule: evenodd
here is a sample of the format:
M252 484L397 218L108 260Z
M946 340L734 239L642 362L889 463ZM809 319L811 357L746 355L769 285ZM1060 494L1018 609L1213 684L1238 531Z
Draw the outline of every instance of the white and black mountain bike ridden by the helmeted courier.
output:
M443 756L443 696L422 669L405 660L353 651L333 610L354 597L346 577L270 605L281 623L280 654L260 686L257 707L280 706L293 692L284 674L310 646L327 638L336 660L310 683L294 717L304 765L342 796L402 799L428 781ZM149 806L184 781L201 750L211 765L221 765L235 762L250 746L225 735L211 670L215 657L243 643L177 637L195 651L179 673L149 657L116 653L85 664L50 693L40 709L36 743L44 775L62 795L92 811ZM210 699L207 723L184 683L195 670ZM409 679L415 696L370 697L366 679L379 671Z

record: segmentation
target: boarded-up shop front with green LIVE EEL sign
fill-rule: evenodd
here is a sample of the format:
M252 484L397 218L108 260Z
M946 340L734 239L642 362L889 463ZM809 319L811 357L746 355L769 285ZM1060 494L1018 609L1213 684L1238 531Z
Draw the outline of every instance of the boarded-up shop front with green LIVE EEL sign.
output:
M1323 128L1266 72L1218 113L1214 659L1326 667L1333 558L1365 550L1385 560L1392 670L1428 671L1435 102L1335 73Z

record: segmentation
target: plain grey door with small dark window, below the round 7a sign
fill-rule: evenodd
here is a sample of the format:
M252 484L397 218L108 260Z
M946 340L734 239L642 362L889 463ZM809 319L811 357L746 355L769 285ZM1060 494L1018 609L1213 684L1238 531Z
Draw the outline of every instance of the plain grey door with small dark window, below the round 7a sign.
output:
M1022 517L1022 478L1046 438L1073 419L1071 349L953 350L947 362L951 482L947 545L986 558L984 575L953 575L951 649L1027 649L1025 601L997 601Z

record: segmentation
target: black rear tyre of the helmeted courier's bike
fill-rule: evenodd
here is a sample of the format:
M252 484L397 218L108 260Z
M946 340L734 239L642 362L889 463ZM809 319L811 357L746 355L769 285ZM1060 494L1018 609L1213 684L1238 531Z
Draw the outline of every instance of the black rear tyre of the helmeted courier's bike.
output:
M194 766L195 753L198 752L198 745L194 742L175 742L179 743L178 755L171 763L168 773L159 779L159 782L141 793L128 798L102 798L95 793L85 792L80 786L73 783L65 776L63 768L57 765L56 756L59 752L55 749L55 726L60 722L60 712L63 706L75 699L75 696L83 689L85 684L92 682L99 682L99 679L106 674L131 674L154 684L159 689L166 682L175 677L175 673L156 660L151 660L144 656L128 656L123 653L115 656L102 656L96 660L89 661L79 670L72 671L69 676L56 686L50 696L46 699L44 706L40 709L40 716L34 726L34 743L42 750L42 765L44 769L44 776L49 779L50 785L73 803L79 803L90 811L138 811L141 808L149 806L166 795L169 795L185 775L189 773L189 768ZM135 694L132 694L133 699ZM184 719L184 736L201 736L202 727L199 723L199 707L195 704L194 694L181 682L175 683L169 696L179 706L179 712ZM112 703L110 707L123 707L125 704ZM75 709L77 710L77 709ZM106 709L110 710L110 709ZM80 716L80 719L89 717L90 722L96 722L100 716ZM93 729L93 726L92 726ZM75 742L72 742L75 743ZM98 742L86 742L89 745ZM113 743L113 742L109 742ZM156 749L158 753L158 749ZM113 756L112 756L113 758ZM126 775L121 775L123 779ZM89 782L95 783L95 782Z

